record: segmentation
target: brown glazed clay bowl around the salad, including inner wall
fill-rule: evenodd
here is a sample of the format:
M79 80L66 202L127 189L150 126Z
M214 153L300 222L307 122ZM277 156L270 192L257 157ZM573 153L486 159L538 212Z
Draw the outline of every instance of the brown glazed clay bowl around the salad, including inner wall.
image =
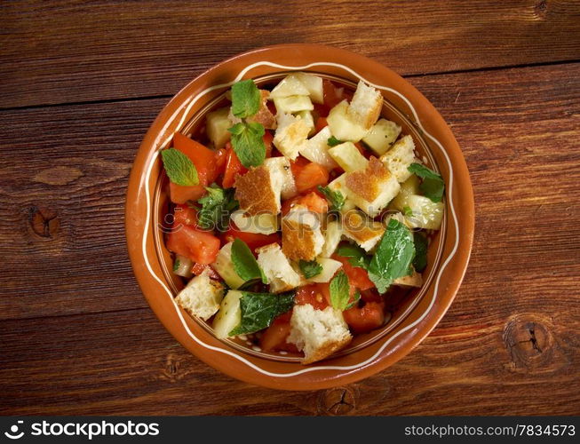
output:
M290 71L313 72L353 88L362 79L384 97L383 115L411 134L417 155L439 170L446 183L441 231L429 247L424 286L393 304L381 329L356 337L346 350L304 366L297 357L262 353L241 340L219 340L211 327L182 311L173 298L183 283L171 273L163 244L168 196L159 150L175 131L188 134L232 83L253 78L264 84ZM245 52L219 63L179 91L163 108L139 148L126 203L131 264L147 302L171 334L202 361L231 377L284 390L345 385L401 360L445 314L465 274L473 241L473 191L465 159L449 126L433 105L390 69L361 55L316 44L282 44Z

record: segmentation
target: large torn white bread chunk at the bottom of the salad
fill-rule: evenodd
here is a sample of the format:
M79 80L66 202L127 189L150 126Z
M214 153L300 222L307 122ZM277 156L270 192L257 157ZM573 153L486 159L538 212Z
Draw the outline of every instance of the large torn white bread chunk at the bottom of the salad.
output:
M342 312L331 306L317 310L310 304L295 305L290 328L287 342L304 352L303 364L321 361L353 339Z

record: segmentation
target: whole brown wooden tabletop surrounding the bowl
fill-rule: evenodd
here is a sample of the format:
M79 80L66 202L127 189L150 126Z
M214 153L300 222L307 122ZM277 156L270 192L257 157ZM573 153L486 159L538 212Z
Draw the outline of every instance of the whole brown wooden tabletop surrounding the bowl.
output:
M0 414L580 413L580 3L5 1ZM171 96L266 44L405 75L463 147L477 222L456 302L359 384L246 385L148 308L123 231L133 157Z

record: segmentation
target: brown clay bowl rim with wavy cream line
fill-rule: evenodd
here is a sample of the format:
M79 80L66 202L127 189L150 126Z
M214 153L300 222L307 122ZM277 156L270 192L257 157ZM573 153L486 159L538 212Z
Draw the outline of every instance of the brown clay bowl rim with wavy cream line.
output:
M430 289L429 294L433 293L431 299L418 304L414 309L417 312L414 318L379 339L377 347L369 345L369 348L376 350L367 350L365 353L365 347L365 350L352 355L309 366L273 363L242 356L242 353L227 347L208 332L195 329L194 321L184 316L173 301L171 291L159 277L163 274L159 274L159 258L151 258L153 230L149 229L153 211L150 179L152 174L154 178L159 174L158 151L171 140L173 132L182 128L191 115L196 113L196 105L203 107L204 102L211 100L213 91L220 91L241 78L256 76L256 69L265 72L334 70L335 73L343 73L345 78L362 79L377 87L385 97L390 95L391 99L399 100L403 107L407 107L409 117L417 123L425 139L433 142L429 148L432 151L433 147L439 150L435 157L446 179L446 225L448 233L452 231L449 225L455 230L451 233L455 236L448 235L441 241L445 243L448 254L441 261L433 291ZM441 164L441 161L447 164ZM473 190L465 159L449 126L433 105L401 76L374 60L346 50L318 44L281 44L243 52L218 63L187 83L163 107L147 131L133 163L127 190L125 226L131 266L147 302L165 328L191 353L215 369L251 384L287 390L311 390L352 383L385 369L410 353L441 320L457 294L471 253L474 230ZM453 243L448 245L449 241ZM445 280L440 289L443 276ZM159 296L163 288L171 302L167 297ZM399 341L394 342L397 338ZM392 343L391 348L387 349L387 345ZM347 365L338 365L340 363Z

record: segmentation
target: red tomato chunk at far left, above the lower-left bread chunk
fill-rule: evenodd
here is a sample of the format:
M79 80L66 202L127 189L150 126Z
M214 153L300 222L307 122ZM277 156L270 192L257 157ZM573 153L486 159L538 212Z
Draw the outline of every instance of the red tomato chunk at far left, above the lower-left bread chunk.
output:
M219 251L219 239L193 226L174 226L167 235L167 248L200 264L211 264Z

